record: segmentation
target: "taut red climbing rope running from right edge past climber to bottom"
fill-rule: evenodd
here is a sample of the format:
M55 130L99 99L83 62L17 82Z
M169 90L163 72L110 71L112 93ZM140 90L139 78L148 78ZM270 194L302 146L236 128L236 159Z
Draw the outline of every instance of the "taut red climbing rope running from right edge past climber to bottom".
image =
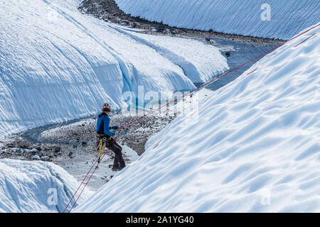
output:
M164 106L168 106L168 105L171 104L172 102L178 101L178 99L181 99L182 97L187 96L188 94L191 94L192 92L196 92L198 89L201 89L201 88L203 88L203 87L206 87L208 84L211 84L212 82L215 82L215 80L220 79L221 77L224 77L226 74L229 74L230 72L233 72L233 71L235 71L235 70L238 70L240 67L242 67L242 66L244 66L244 65L247 65L248 63L250 63L250 62L252 62L252 61L254 61L254 60L262 57L263 55L267 55L267 53L272 52L273 50L276 50L277 48L282 47L282 45L284 45L284 44L286 44L286 43L289 43L291 40L294 40L295 38L298 38L299 36L301 36L301 35L309 32L309 31L311 31L312 29L318 27L319 25L320 25L320 24L317 24L316 26L314 26L314 27L312 27L312 28L309 28L308 30L304 31L303 33L300 33L299 35L294 36L293 38L285 41L284 43L282 43L282 44L280 44L280 45L277 45L277 47L272 48L272 49L268 50L267 52L264 52L263 54L255 57L255 58L252 58L252 60L249 60L249 61L243 63L242 65L238 66L238 67L235 67L233 70L229 70L228 72L225 72L224 74L220 75L219 77L215 77L215 79L212 79L212 80L210 80L209 82L206 82L205 84L202 84L200 87L197 87L196 89L193 89L191 92L187 92L186 94L183 94L182 96L179 96L178 98L169 101L169 103L164 104L163 106L160 106L158 109L154 109L153 111L150 111L148 114L144 114L144 116L141 116L141 117L137 118L136 120L131 121L131 122L125 124L124 126L120 127L119 130L121 130L122 128L125 128L125 127L127 127L127 126L129 126L129 125L131 125L132 123L134 123L134 122L136 122L136 121L139 121L140 119L148 116L149 114L154 113L155 111L159 111L159 109L164 108ZM315 34L316 34L316 33L315 33ZM315 34L314 34L314 35L315 35ZM311 36L313 36L313 35L311 35ZM310 36L309 38L311 38L311 36ZM306 40L308 40L309 38L307 38ZM306 40L304 40L304 41L306 41ZM302 43L304 43L304 41L302 41ZM299 43L299 44L301 44L301 43ZM296 45L296 46L297 46L297 45ZM117 138L114 138L113 141L115 141L116 139L117 139ZM105 153L103 154L102 158L105 156L106 153L107 153L107 149L106 149ZM101 158L101 159L102 159L102 158ZM95 161L95 163L96 163L96 162L97 162L97 160ZM92 167L95 165L95 163L92 165ZM99 163L98 163L97 166L99 166ZM92 170L92 167L90 168L90 170L89 170L89 172L87 173L87 175L89 175L90 171ZM97 170L97 167L95 168L95 170ZM92 172L92 174L90 175L90 178L87 180L87 183L85 184L85 187L86 187L87 184L89 183L92 175L95 173L95 170ZM87 177L87 175L85 176L85 178ZM78 187L78 189L81 187L81 185L82 185L82 183L84 182L84 180L85 180L85 179L82 180L82 182L81 182L80 186ZM78 196L78 199L80 198L80 196L81 196L83 190L85 189L85 187L84 187L84 188L82 189L82 191L80 192L80 195ZM78 189L77 189L77 191L75 192L75 194L78 192ZM73 195L73 198L74 198L75 194ZM73 200L73 198L70 199L69 204L70 204L70 202ZM78 201L78 199L75 201L75 204L76 204L76 202ZM68 204L68 206L69 206L69 204ZM73 204L73 206L75 206L75 204ZM65 209L67 209L68 206L65 207ZM73 209L73 206L71 207L70 211ZM70 212L70 211L69 211L69 212ZM65 212L65 211L63 211L63 213L64 213L64 212Z

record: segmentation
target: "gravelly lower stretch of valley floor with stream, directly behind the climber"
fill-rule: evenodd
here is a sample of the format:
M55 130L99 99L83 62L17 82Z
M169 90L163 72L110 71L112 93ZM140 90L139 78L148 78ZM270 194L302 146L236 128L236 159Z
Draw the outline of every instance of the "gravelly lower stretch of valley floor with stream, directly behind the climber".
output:
M172 103L161 111L155 111L124 128L117 141L122 145L126 164L134 165L131 163L136 162L139 155L144 153L146 140L161 131L176 116L196 114L198 104L210 97L211 93L213 91L201 89L192 98L186 96L181 101ZM111 125L123 126L146 113L148 111L141 110L137 114L112 113ZM41 160L44 160L43 157L47 157L46 161L63 167L81 182L98 155L95 145L96 121L97 116L92 116L67 123L33 128L25 133L13 135L1 145L0 158L33 160L33 156L38 155ZM108 151L95 171L95 175L90 179L89 189L93 191L99 189L117 174L110 168L113 158L114 153Z

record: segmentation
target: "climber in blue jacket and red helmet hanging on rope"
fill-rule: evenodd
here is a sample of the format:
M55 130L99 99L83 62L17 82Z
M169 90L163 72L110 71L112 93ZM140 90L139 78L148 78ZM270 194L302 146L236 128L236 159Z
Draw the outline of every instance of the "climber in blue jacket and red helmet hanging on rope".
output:
M112 170L116 171L122 170L126 165L122 157L122 148L116 141L114 141L114 138L112 138L115 133L110 131L110 129L117 130L119 127L110 127L110 111L110 105L107 103L103 104L102 113L97 119L97 149L100 151L98 162L100 162L102 147L105 146L114 152Z

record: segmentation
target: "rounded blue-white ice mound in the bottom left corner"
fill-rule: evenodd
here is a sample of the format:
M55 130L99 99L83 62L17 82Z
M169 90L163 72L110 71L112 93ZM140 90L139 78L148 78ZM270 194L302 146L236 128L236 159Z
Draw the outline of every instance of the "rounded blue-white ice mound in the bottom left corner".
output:
M63 212L78 184L51 162L2 159L0 213ZM86 189L78 202L91 194Z

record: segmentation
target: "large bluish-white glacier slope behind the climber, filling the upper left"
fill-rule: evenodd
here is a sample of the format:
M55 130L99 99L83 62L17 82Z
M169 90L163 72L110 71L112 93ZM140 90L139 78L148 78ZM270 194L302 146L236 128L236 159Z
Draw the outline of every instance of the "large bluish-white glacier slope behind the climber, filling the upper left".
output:
M174 92L193 89L196 79L228 69L225 57L210 45L180 39L166 46L184 64L122 28L83 15L79 0L0 1L0 138L36 126L89 116L105 101L126 104L124 92ZM157 41L158 42L158 41ZM177 51L177 49L179 49ZM210 65L183 53L207 52ZM221 59L215 63L216 59ZM180 62L181 63L181 62Z

